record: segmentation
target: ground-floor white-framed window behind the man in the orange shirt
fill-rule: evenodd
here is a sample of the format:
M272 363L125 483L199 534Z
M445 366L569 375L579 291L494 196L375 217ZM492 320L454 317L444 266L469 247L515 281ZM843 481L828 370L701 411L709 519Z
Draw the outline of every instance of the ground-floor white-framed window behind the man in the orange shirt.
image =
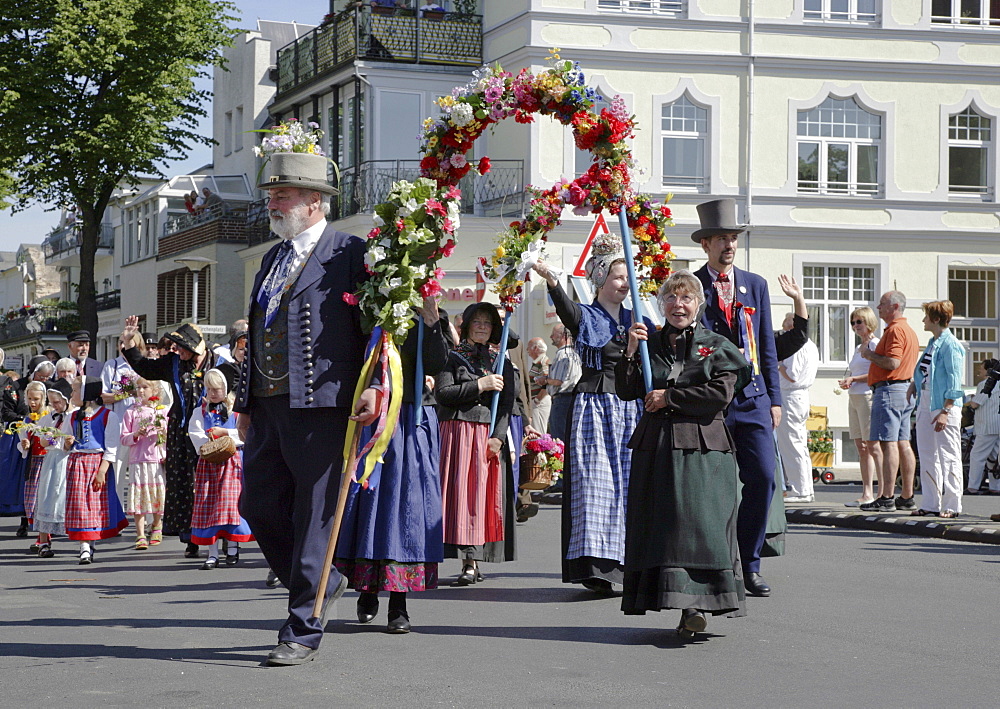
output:
M857 346L851 311L875 302L874 266L803 266L802 291L809 308L809 336L823 362L850 360Z

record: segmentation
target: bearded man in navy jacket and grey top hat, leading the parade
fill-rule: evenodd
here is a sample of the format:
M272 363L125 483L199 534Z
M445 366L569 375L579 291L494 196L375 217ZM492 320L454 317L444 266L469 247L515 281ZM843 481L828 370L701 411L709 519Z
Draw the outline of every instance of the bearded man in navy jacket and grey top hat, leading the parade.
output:
M343 467L348 418L375 418L368 388L350 416L367 338L357 307L343 300L366 278L364 242L328 226L326 160L306 153L271 157L271 230L250 296L250 332L235 410L245 431L240 509L278 579L288 619L270 665L312 660L326 605L347 580L331 571L324 611L312 617Z

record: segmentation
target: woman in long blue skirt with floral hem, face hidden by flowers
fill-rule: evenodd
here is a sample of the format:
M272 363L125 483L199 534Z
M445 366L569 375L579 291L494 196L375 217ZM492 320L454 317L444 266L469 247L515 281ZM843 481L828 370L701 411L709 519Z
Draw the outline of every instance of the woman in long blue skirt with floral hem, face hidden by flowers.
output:
M337 544L337 568L350 587L361 592L358 621L372 622L378 613L378 594L388 592L389 633L409 632L406 594L437 588L438 563L444 558L438 417L426 383L421 400L415 401L415 376L417 357L423 359L426 376L437 375L448 361L452 342L448 316L438 310L435 296L424 298L418 317L424 322L423 350L417 350L416 327L400 347L399 423L370 483L351 486ZM366 429L362 444L373 428Z

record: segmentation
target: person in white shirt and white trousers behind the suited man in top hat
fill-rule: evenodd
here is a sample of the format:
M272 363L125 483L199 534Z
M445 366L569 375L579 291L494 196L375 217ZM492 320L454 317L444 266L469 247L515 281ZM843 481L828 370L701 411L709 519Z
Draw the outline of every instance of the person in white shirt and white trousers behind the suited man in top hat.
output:
M781 329L792 332L795 313L785 315ZM777 428L778 453L784 464L785 480L791 494L785 502L812 502L812 460L809 457L809 387L819 369L819 350L806 338L799 350L778 364L781 375L781 422Z

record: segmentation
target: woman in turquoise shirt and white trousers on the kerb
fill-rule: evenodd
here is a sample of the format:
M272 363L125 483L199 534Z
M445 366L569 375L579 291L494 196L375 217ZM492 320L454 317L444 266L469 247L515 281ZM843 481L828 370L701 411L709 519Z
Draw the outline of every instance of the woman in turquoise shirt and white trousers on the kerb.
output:
M931 333L906 392L917 395L920 509L917 517L957 517L962 511L962 373L965 350L948 329L950 300L924 303L924 330Z

